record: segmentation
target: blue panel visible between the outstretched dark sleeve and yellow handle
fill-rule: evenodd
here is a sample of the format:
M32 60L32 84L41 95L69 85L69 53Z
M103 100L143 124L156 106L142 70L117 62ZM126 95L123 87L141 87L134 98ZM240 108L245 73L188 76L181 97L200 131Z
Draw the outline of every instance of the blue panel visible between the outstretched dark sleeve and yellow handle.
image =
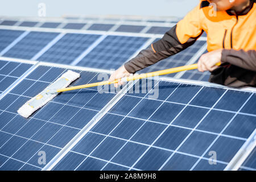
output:
M159 39L157 39L159 40ZM156 64L151 65L150 67L142 69L142 73L159 71L162 69L181 67L188 63L188 61L201 49L202 46L206 44L205 41L197 40L192 46L187 49L172 55L167 59L161 60ZM174 77L177 73L172 73L169 75L164 75L165 77Z

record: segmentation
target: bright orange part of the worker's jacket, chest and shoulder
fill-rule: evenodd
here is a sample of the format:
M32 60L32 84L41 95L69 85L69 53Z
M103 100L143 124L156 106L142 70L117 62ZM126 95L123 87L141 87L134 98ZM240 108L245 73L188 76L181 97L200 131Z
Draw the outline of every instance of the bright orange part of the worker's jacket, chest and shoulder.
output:
M180 43L189 38L196 38L202 31L207 33L207 49L213 51L220 48L256 49L256 3L244 15L233 15L227 11L213 11L208 1L190 11L177 23L176 34Z

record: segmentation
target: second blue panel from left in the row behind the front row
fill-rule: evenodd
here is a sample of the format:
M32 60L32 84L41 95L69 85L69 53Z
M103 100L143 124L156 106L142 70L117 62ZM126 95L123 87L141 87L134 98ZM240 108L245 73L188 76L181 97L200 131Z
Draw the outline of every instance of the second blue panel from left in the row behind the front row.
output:
M58 34L53 32L30 32L3 56L31 59Z

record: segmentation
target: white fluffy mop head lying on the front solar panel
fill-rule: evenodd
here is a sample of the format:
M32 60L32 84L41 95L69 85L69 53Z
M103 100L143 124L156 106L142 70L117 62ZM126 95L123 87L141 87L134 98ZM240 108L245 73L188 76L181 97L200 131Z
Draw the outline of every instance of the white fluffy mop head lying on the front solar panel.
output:
M57 92L52 92L52 90L66 88L71 82L80 77L79 73L73 71L65 72L60 78L58 78L51 85L47 86L42 92L40 92L37 96L31 98L31 100L27 101L22 107L19 108L18 113L22 115L24 118L28 118L32 113L38 110L40 107L43 107L50 100L52 100L55 96L57 96ZM49 94L49 92L51 92Z

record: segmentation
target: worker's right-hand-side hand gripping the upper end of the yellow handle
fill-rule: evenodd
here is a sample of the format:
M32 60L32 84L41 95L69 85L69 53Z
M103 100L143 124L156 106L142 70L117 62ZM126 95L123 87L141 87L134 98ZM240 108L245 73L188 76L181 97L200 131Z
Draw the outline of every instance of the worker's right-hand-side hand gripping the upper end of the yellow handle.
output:
M222 52L222 49L218 49L215 51L205 53L204 55L201 55L197 63L198 70L200 72L204 72L204 71L211 72L214 69L218 68L216 64L221 61L221 52Z

